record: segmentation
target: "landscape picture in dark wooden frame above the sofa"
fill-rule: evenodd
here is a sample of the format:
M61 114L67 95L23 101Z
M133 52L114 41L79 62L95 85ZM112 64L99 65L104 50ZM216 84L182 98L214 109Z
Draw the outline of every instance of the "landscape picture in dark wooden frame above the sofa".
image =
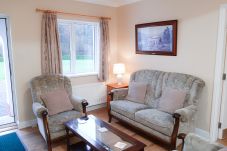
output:
M136 53L177 55L177 20L136 25Z

